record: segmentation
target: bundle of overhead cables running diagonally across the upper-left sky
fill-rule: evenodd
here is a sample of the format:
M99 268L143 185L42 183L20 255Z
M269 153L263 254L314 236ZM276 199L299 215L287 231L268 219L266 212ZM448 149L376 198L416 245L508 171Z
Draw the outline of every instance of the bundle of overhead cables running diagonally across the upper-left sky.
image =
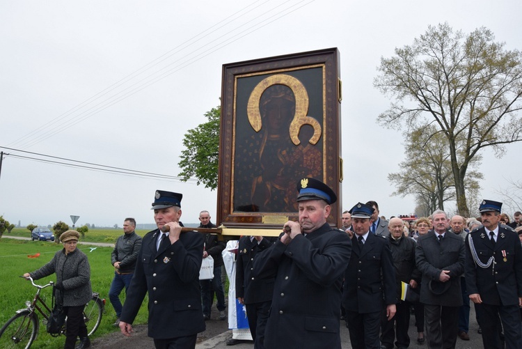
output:
M90 118L90 116L93 116L93 115L99 113L100 111L103 111L104 109L111 107L113 104L116 104L116 103L120 102L121 100L124 100L125 98L128 98L129 96L134 95L135 93L138 93L139 91L143 90L144 88L147 88L148 86L151 86L152 84L159 82L161 79L164 79L164 78L174 74L175 72L178 72L184 68L187 68L187 66L189 66L193 63L196 63L196 61L203 59L204 57L208 56L209 54L212 54L213 52L216 52L217 50L219 50L223 47L226 47L227 45L230 45L232 42L235 42L235 41L239 40L240 38L244 38L245 36L248 36L249 34L253 33L254 31L257 31L257 30L263 28L264 26L267 26L268 24L270 24L276 20L279 20L282 17L285 17L286 15L289 15L290 13L293 13L296 10L299 10L299 8L302 8L303 6L306 6L313 1L315 1L315 0L301 0L298 3L294 3L294 4L291 4L290 6L287 6L286 8L283 8L282 10L279 10L278 8L283 6L285 3L290 2L290 0L285 1L285 3L283 3L283 4L278 4L277 6L274 6L273 8L270 8L269 10L265 11L261 15L258 15L257 17L255 17L254 20L258 20L258 22L255 22L255 24L248 26L246 29L240 31L239 33L232 35L232 33L234 33L235 31L239 31L239 29L242 29L244 26L247 26L248 24L251 24L252 22L254 22L254 20L251 22L246 22L245 24L241 24L241 25L237 26L235 29L232 29L232 30L228 31L227 33L220 35L216 40L219 40L219 39L223 39L223 40L221 40L221 42L218 42L216 45L209 47L210 45L214 44L216 42L216 40L214 40L213 42L207 42L204 45L202 45L196 49L193 49L192 52L189 52L188 54L185 54L184 56L180 57L180 59L177 59L171 63L168 63L163 68L159 68L155 72L152 72L149 75L146 75L145 77L143 77L143 79L140 79L138 82L131 84L130 86L127 86L120 91L117 91L116 93L108 96L104 100L97 102L97 104L94 104L92 107L90 107L84 111L81 111L76 116L72 116L74 113L79 112L81 109L88 107L89 104L93 104L96 100L101 99L104 95L111 93L112 91L116 90L116 88L118 88L118 87L122 86L123 84L131 81L132 79L138 77L139 75L143 74L147 70L150 70L152 67L158 65L159 63L161 63L163 61L166 61L166 59L170 58L174 54L177 54L178 52L182 52L187 47L190 47L191 45L194 45L199 40L206 38L207 36L210 35L210 33L207 33L204 36L203 36L203 34L210 31L210 29L212 29L224 22L223 25L218 26L216 28L216 31L217 31L217 29L221 29L221 28L227 26L228 24L231 24L235 20L241 18L244 14L250 13L253 10L262 6L264 3L269 2L269 1L264 1L263 3L260 3L258 6L251 8L250 10L246 11L241 16L239 16L239 14L244 12L247 8L253 6L253 4L255 4L255 3L259 2L259 1L256 1L255 3L248 5L245 8L242 8L242 10L237 11L233 15L230 15L229 17L227 17L225 20L222 20L218 24L214 24L214 26L210 26L208 29L205 29L205 31L202 31L198 35L193 36L189 40L186 40L182 44L180 44L177 47L175 47L174 49L171 49L170 51L166 52L166 54L159 56L159 58L151 61L147 65L143 65L143 67L139 68L138 70L135 70L134 72L127 75L123 79L120 79L118 82L116 82L115 84L112 84L108 88L105 88L103 91L100 91L100 93L97 93L93 97L88 98L81 104L78 104L76 107L70 109L69 111L65 112L64 114L61 114L61 116L54 118L49 123L46 123L45 125L38 127L38 129L34 130L33 132L30 132L29 134L26 134L24 137L17 139L16 141L12 142L9 145L11 146L13 144L22 143L22 146L24 146L24 148L26 148L26 147L30 147L35 144L38 144L41 141L45 141L45 139L52 137L54 134L67 130L68 128L76 125L77 123L80 123L81 121L84 121L87 118ZM304 3L304 4L299 6L301 3ZM276 13L275 15L270 15L270 13L275 10L278 10L279 12ZM235 19L228 21L230 18L234 17L235 15L237 15L237 17ZM265 19L260 19L264 15L269 15L269 17L265 18ZM214 33L216 31L212 31L211 33ZM230 34L230 37L226 38L226 36L229 36L229 34ZM202 37L198 38L199 36L202 36ZM198 40L195 40L196 38L198 38ZM188 45L183 47L183 45L187 44L188 42L191 42L191 43L189 43ZM209 48L205 49L205 47L209 47ZM201 51L202 49L205 49L205 51L196 54L198 51ZM171 52L173 52L173 53L171 53ZM162 59L162 57L164 57L164 56L166 56L166 57ZM174 65L177 62L180 62L180 63L173 66L172 68L168 69L169 67L171 67L172 65ZM129 91L127 91L127 90L129 90ZM125 91L127 91L127 92L125 92ZM72 118L70 118L67 121L64 121L63 123L58 124L59 121L62 121L63 119L67 118L68 116L72 116ZM55 125L55 124L58 124L58 125L52 127L52 125ZM47 130L47 131L45 131L45 130Z

